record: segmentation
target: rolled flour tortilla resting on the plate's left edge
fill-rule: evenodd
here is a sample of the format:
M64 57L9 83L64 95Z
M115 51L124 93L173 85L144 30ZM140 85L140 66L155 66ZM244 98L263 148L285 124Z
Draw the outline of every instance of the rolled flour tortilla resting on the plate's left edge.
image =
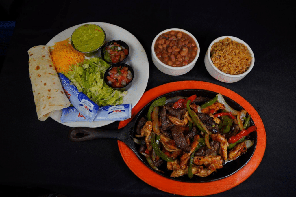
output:
M70 101L54 68L49 47L34 46L28 51L29 73L38 119L45 121L56 110L67 108Z

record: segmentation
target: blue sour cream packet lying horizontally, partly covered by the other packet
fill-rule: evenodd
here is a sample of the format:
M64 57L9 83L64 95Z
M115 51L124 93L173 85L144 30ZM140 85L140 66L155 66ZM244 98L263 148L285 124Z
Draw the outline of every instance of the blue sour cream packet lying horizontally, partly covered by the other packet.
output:
M131 118L131 104L101 106L94 121L124 121ZM64 108L61 120L65 122L88 121L74 106Z

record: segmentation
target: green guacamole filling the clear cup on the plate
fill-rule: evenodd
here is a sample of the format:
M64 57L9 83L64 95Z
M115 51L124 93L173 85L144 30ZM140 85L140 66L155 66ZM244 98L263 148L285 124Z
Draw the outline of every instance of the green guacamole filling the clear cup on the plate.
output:
M98 25L86 24L73 32L71 40L78 51L87 53L96 50L104 43L105 34Z

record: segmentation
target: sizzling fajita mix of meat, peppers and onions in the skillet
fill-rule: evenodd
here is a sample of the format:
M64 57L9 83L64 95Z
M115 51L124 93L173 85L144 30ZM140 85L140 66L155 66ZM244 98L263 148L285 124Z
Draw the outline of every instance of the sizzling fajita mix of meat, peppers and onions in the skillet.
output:
M245 154L254 143L246 110L234 110L221 94L214 98L162 97L137 124L134 142L149 165L171 177L206 177Z

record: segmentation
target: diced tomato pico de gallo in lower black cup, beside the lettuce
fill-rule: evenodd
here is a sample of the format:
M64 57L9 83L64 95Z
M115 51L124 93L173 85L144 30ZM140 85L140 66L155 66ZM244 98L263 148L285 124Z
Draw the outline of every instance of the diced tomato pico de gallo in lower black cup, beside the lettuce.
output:
M125 87L133 79L133 74L126 66L113 66L107 75L108 84L114 88Z

